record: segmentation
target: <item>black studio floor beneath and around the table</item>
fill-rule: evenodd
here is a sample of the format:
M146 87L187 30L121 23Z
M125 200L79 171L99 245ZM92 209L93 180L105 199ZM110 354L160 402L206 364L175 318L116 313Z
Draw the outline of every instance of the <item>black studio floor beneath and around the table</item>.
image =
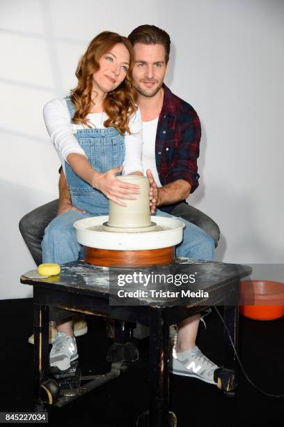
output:
M33 411L32 299L0 301L0 412ZM111 339L101 317L88 316L88 334L77 338L83 375L109 370L105 361ZM255 384L284 394L284 317L272 322L240 319L240 356ZM200 325L198 346L222 365L223 325L213 311ZM62 408L49 407L49 426L134 427L148 409L148 338L136 340L139 361L116 380L90 391ZM284 398L260 394L240 373L234 398L198 380L170 375L171 409L178 427L284 426ZM46 425L46 424L42 424Z

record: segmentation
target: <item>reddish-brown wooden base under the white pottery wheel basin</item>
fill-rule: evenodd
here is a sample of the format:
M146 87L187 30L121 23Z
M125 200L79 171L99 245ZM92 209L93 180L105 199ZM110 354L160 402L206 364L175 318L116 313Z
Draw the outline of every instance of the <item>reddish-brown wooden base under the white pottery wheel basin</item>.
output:
M85 246L85 261L102 267L152 267L171 264L175 246L149 250L109 250Z

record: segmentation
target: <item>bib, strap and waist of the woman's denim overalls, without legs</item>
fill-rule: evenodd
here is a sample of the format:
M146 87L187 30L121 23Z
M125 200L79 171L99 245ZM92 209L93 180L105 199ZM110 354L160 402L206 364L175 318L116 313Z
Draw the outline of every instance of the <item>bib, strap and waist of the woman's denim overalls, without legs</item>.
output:
M74 115L74 106L70 98L65 98L70 112ZM73 130L74 137L88 156L90 165L100 173L123 164L125 141L116 128ZM65 176L70 190L72 204L93 216L109 213L109 200L83 179L79 178L65 162Z

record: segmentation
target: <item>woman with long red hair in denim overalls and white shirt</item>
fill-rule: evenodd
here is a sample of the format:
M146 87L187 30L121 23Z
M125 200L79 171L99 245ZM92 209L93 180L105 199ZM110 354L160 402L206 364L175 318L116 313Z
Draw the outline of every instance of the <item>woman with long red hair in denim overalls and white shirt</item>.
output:
M45 124L58 151L72 204L52 220L42 240L42 261L63 264L77 260L75 220L109 211L109 199L125 205L139 186L123 183L115 175L142 174L141 114L132 89L133 52L129 40L104 31L81 57L78 84L70 96L52 100L44 108ZM123 164L123 167L121 166ZM50 365L59 370L77 359L72 321L57 326Z

